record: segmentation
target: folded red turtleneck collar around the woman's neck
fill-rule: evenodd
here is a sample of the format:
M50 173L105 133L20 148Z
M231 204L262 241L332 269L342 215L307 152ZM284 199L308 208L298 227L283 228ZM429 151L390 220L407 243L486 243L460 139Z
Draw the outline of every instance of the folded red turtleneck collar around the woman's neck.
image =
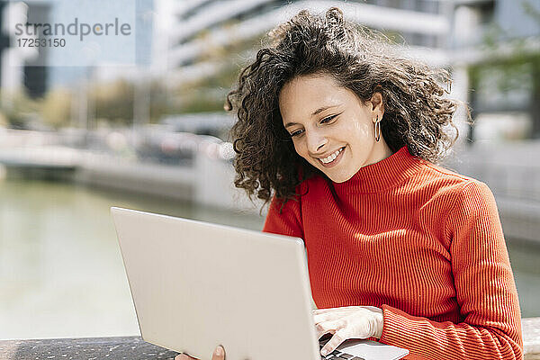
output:
M407 146L400 148L390 157L363 166L343 183L332 183L340 193L381 193L414 175L425 160L413 157Z

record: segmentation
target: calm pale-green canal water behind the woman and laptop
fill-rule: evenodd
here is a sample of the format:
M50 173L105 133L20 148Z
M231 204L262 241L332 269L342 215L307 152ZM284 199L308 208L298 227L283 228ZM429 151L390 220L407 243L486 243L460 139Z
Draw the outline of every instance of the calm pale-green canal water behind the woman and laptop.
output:
M37 180L0 181L0 338L139 335L111 206L260 230L255 214ZM522 316L540 316L540 246L507 239Z

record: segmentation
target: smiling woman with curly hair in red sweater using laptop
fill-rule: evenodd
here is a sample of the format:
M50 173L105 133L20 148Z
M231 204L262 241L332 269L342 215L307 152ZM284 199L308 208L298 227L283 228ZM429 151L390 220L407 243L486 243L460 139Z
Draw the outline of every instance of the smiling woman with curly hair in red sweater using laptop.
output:
M322 355L372 338L407 359L522 358L493 195L436 165L457 138L448 73L338 8L269 35L227 96L235 184L271 202L264 231L304 239Z

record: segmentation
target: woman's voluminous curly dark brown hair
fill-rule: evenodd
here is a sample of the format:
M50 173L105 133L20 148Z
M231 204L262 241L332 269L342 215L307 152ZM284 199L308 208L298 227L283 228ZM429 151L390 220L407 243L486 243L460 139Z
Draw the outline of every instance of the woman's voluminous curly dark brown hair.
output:
M381 129L393 152L407 146L411 155L437 163L454 145L458 130L452 118L463 102L444 97L449 90L443 85L452 84L448 71L403 57L382 33L345 20L337 7L324 15L302 10L266 40L255 61L240 71L224 105L238 115L229 132L237 153L234 184L250 200L264 200L261 211L273 190L286 202L298 195L303 180L326 177L296 153L284 129L278 95L296 76L333 76L363 103L381 93ZM446 126L454 128L454 137Z

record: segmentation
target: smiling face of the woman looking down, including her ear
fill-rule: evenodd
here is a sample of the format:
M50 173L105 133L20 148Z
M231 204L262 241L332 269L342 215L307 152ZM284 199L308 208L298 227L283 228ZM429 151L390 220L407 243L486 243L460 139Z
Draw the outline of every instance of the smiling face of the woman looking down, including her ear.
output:
M279 109L298 155L335 183L392 155L383 135L374 137L384 113L380 93L364 104L329 75L298 76L282 88Z

